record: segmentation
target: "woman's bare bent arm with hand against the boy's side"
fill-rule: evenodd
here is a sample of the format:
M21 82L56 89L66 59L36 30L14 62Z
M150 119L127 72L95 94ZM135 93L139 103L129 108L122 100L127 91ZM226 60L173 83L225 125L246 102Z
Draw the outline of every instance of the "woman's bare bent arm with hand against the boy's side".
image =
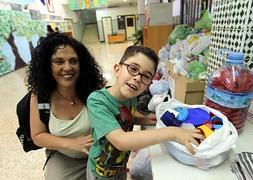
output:
M47 149L72 149L87 152L93 141L91 135L65 138L50 134L45 124L40 120L38 98L34 94L31 95L30 100L30 128L33 142L37 146Z

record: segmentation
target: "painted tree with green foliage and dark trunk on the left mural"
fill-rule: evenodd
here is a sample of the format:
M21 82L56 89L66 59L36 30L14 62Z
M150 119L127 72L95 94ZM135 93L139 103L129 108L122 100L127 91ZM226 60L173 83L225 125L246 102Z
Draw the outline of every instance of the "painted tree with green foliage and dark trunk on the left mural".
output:
M44 36L46 34L45 23L41 20L31 19L30 14L19 11L0 10L0 46L8 42L15 55L15 69L26 65L21 58L18 48L14 42L14 35L26 37L30 50L33 50L32 37L34 35Z

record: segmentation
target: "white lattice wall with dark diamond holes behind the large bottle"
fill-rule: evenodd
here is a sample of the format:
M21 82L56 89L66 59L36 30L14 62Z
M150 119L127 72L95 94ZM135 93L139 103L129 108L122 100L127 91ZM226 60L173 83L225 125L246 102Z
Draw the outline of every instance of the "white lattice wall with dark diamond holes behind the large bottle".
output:
M225 58L221 49L243 52L245 64L253 71L253 1L216 0L212 22L212 43L208 73L219 68Z

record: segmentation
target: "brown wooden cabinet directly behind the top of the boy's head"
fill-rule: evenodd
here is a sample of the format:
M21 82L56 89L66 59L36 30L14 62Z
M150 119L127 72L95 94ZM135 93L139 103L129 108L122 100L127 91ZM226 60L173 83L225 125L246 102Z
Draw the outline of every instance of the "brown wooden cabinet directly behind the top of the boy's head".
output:
M172 25L145 26L143 28L143 45L158 53L159 49L167 44L172 29Z

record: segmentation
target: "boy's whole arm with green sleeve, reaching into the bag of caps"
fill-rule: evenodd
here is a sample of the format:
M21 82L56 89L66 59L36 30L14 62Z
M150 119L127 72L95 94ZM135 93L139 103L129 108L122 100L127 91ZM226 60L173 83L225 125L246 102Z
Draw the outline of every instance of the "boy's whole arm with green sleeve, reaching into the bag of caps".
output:
M198 145L197 139L204 139L198 129L166 127L154 130L125 132L106 105L107 98L102 93L92 93L87 100L89 118L98 139L106 137L120 151L141 149L168 140L177 141L194 152L191 143Z

